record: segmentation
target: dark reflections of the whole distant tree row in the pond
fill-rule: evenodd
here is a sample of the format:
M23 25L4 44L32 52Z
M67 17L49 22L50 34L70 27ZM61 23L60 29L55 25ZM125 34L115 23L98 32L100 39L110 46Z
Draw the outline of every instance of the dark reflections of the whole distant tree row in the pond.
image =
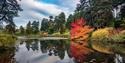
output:
M69 52L69 45L66 45L67 40L27 40L26 48L29 51L32 49L33 51L40 50L42 53L48 53L49 56L59 56L62 60L65 56L65 51ZM40 45L39 45L40 43ZM67 47L67 48L66 48ZM68 54L69 55L69 54Z

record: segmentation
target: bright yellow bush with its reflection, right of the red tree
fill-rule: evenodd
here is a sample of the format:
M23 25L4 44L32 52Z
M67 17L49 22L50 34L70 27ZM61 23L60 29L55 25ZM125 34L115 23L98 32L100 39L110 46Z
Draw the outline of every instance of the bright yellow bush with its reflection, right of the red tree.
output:
M103 28L98 29L92 33L91 36L91 45L92 48L103 53L112 54L112 48L108 43L109 40L109 30L112 28Z

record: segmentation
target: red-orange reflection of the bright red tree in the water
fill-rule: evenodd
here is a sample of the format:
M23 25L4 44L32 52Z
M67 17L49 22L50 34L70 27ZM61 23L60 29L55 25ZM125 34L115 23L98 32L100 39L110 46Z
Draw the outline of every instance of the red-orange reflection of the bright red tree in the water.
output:
M82 45L71 43L70 45L71 55L79 62L84 62L86 55L90 53L90 49L83 47Z

